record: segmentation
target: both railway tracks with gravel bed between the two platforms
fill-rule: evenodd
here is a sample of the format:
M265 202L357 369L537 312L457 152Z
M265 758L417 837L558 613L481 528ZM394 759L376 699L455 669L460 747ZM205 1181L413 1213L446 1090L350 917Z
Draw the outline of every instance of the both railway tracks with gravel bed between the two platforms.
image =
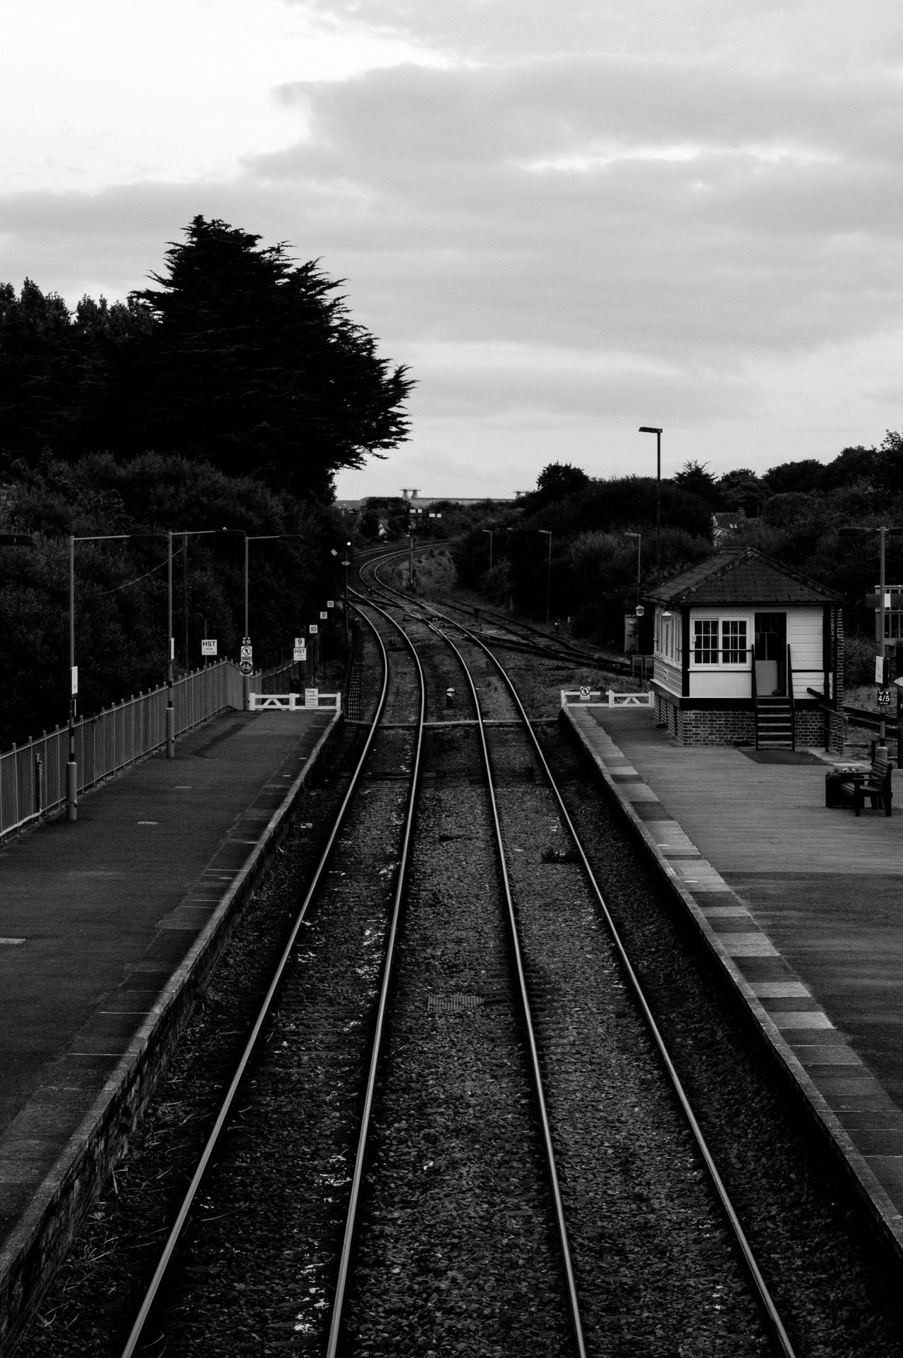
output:
M372 588L380 720L110 1354L792 1353L511 687Z

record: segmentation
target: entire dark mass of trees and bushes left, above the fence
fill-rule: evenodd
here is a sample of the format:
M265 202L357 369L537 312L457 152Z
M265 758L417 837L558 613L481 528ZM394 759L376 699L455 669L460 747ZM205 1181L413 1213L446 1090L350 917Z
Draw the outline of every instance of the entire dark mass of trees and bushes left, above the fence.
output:
M291 655L341 592L334 474L406 437L405 369L316 262L196 217L151 280L75 311L0 285L0 527L35 535L0 554L0 748L65 721L69 534L128 535L76 549L87 716L163 679L167 530L217 531L175 542L178 667L201 663L205 634L238 656L243 540L221 528L263 539L255 661Z

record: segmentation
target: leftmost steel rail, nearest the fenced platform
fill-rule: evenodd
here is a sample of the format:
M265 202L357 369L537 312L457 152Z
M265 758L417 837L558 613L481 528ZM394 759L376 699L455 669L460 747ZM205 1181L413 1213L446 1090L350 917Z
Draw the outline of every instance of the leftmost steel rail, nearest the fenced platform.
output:
M367 756L368 756L368 754L371 751L371 747L372 747L373 739L376 736L376 731L377 731L380 718L383 716L383 710L384 710L384 706L386 706L386 695L388 693L388 656L386 655L386 648L383 646L382 637L379 636L379 631L376 630L376 627L369 622L368 618L365 618L365 622L368 623L368 626L371 627L371 630L373 631L373 634L376 637L376 641L379 642L379 646L380 646L380 650L382 650L382 660L383 660L383 686L382 686L379 702L376 705L376 712L375 712L375 716L373 716L373 721L372 721L369 733L367 735L367 739L364 741L364 748L363 748L361 756L360 756L360 759L357 762L357 767L354 769L354 773L353 773L352 779L349 782L348 790L345 792L345 797L342 799L342 804L341 804L341 807L338 809L338 815L335 816L335 820L334 820L333 828L330 831L326 847L323 849L323 853L322 853L320 860L319 860L319 862L318 862L318 865L316 865L316 868L314 870L314 876L312 876L311 883L308 885L308 889L307 889L307 894L304 896L304 900L301 902L300 910L299 910L299 913L296 915L296 919L295 919L295 923L292 926L292 932L291 932L289 940L285 944L285 948L282 951L282 956L280 957L280 961L278 961L278 964L276 967L276 971L273 972L273 979L270 980L270 986L269 986L269 989L266 991L266 995L263 998L263 1002L262 1002L262 1005L259 1008L258 1016L257 1016L257 1019L254 1021L254 1027L251 1028L250 1036L248 1036L248 1039L246 1042L244 1050L243 1050L242 1057L239 1059L239 1063L238 1063L238 1066L235 1069L235 1074L232 1076L232 1081L231 1081L231 1084L229 1084L229 1086L228 1086L228 1089L225 1092L223 1103L220 1104L220 1111L217 1112L216 1122L213 1123L213 1128L210 1130L210 1134L209 1134L209 1137L206 1139L206 1143L205 1143L204 1150L201 1153L201 1157L198 1160L197 1168L196 1168L194 1175L191 1177L191 1183L189 1184L189 1187L187 1187L187 1190L185 1192L185 1198L182 1199L182 1205L181 1205L179 1211L177 1214L177 1218L175 1218L174 1224L172 1224L172 1228L170 1230L167 1241L166 1241L166 1244L163 1247L163 1252L162 1252L160 1259L158 1262L156 1270L155 1270L153 1277L152 1277L152 1279L151 1279L151 1282L149 1282L149 1285L147 1287L147 1291L144 1294L144 1300L141 1302L141 1308L140 1308L140 1310L139 1310L139 1313L136 1316L134 1324L132 1325L132 1331L129 1334L126 1344L122 1348L122 1358L132 1358L132 1355L134 1354L136 1347L137 1347L137 1344L139 1344L139 1342L141 1339L141 1335L143 1335L144 1327L147 1324L148 1316L151 1315L151 1309L152 1309L153 1302L156 1301L156 1297L159 1294L160 1285L163 1283L163 1278L164 1278L164 1275L167 1272L167 1268L168 1268L168 1266L170 1266L170 1263L172 1260L172 1255L174 1255L175 1248L178 1245L178 1241L179 1241L179 1237L182 1234L182 1230L185 1229L185 1224L187 1221L189 1211L191 1210L191 1206L193 1206L194 1199L197 1196L198 1188L201 1187L201 1181L204 1179L204 1175L206 1173L206 1169L209 1167L209 1162L210 1162L210 1158L213 1156L213 1152L216 1150L219 1138L220 1138L220 1135L223 1133L223 1128L224 1128L224 1126L227 1123L229 1111L231 1111L232 1104L235 1101L235 1095L238 1093L239 1085L240 1085L240 1082L242 1082L242 1080L244 1077L244 1073L247 1070L247 1066L248 1066L248 1063L251 1061L251 1057L253 1057L254 1050L257 1047L257 1043L258 1043L258 1039L259 1039L261 1032L263 1029L263 1025L265 1025L265 1023L266 1023L266 1020L269 1017L270 1006L273 1004L276 993L277 993L277 990L280 987L280 983L282 980L282 976L284 976L285 968L287 968L287 966L289 963L291 955L292 955L292 952L295 949L295 944L297 942L297 936L299 936L299 933L301 930L301 925L304 923L304 918L307 915L307 910L308 910L310 903L314 899L316 891L319 889L320 881L322 881L323 875L326 872L326 866L327 866L327 864L329 864L329 861L330 861L330 858L333 856L333 850L335 847L335 841L338 839L339 831L342 830L342 826L345 824L348 809L349 809L349 807L352 804L354 793L357 792L357 785L358 785L358 782L361 779L364 763L365 763Z

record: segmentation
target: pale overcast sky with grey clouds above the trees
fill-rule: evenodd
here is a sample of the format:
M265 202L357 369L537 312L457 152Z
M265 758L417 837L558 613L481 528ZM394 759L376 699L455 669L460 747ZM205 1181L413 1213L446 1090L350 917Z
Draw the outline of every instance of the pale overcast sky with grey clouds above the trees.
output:
M903 428L893 0L10 0L0 280L124 297L197 213L417 379L341 496L824 462Z

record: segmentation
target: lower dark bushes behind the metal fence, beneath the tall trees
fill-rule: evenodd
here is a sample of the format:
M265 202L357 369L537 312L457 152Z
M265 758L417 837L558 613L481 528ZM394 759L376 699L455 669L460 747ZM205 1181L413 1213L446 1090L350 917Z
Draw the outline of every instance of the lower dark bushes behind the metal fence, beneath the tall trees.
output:
M274 492L209 463L145 454L77 462L50 456L1 490L3 521L35 535L0 550L0 748L64 724L68 705L68 535L126 534L75 549L79 710L90 716L158 687L167 656L166 531L239 528L248 545L248 627L257 664L292 653L292 640L342 592L342 527L334 509ZM282 538L274 535L282 534ZM147 536L145 536L147 535ZM201 665L201 640L238 660L244 627L240 534L174 538L177 674ZM333 555L335 551L335 555ZM338 645L338 629L325 636Z

